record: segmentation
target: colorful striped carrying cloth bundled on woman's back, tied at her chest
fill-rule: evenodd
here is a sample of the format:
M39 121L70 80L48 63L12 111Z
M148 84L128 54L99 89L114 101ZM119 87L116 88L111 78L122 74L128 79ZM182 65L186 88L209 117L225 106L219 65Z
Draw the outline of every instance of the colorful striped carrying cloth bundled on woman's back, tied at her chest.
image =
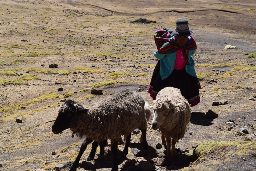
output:
M197 48L194 38L190 35L188 37L188 43L185 46L179 46L175 41L175 37L171 35L172 31L168 28L158 28L154 34L154 40L156 47L160 54L168 54L176 52L181 49L184 54L186 65L189 65L188 56L186 50L195 50Z

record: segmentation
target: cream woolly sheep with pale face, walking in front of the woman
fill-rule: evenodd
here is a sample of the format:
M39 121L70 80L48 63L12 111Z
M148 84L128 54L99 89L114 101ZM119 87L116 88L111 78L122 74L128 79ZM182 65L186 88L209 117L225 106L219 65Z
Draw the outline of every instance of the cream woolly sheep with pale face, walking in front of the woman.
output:
M167 157L174 158L175 144L184 137L190 120L190 104L180 90L173 87L166 87L159 91L154 103L152 128L155 130L159 128L162 133L162 143L165 143L166 138Z

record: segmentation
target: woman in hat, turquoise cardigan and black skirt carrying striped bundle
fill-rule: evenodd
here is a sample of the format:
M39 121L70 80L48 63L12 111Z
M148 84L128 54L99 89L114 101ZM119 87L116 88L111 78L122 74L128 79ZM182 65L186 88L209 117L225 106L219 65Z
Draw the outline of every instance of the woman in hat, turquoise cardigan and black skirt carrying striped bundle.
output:
M179 88L191 106L200 102L200 82L197 79L195 63L191 55L196 52L193 31L186 19L176 21L175 31L167 28L157 29L154 34L157 51L154 56L160 59L154 69L148 93L156 98L165 87Z

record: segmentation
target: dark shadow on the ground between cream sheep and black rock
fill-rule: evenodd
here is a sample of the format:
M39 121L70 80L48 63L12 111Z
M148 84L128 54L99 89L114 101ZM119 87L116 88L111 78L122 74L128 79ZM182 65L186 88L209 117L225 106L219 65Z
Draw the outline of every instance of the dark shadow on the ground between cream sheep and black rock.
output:
M210 126L213 119L205 117L204 112L192 112L190 122L195 125Z

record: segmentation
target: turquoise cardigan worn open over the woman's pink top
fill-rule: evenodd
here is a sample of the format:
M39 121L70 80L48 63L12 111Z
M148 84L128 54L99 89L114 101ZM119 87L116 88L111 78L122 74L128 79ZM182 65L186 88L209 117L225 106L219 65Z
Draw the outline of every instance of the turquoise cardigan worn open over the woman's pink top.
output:
M193 51L188 51L188 62L189 65L185 66L186 72L189 75L192 75L197 78L196 71L195 71L195 62L191 55L196 52L196 49ZM169 54L159 54L157 52L154 53L154 56L157 59L160 59L160 76L163 79L167 78L174 69L175 59L176 59L176 52L169 53Z

